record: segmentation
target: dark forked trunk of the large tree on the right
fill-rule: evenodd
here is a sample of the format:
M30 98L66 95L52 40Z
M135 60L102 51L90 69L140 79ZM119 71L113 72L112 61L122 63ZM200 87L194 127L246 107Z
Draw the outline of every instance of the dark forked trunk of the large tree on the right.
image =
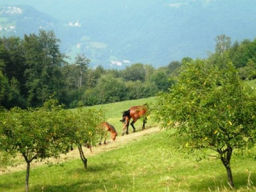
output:
M231 147L227 147L227 149L225 150L221 150L221 149L218 150L219 154L221 155L221 161L227 170L228 183L231 189L235 189L231 167L230 167L230 159L231 159L232 151L233 151L233 148Z

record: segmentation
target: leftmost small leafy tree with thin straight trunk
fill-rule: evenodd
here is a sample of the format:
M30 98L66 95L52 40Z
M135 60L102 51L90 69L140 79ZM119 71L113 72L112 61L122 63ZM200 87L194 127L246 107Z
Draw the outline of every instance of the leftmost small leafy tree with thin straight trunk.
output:
M57 158L66 153L68 136L74 128L73 116L49 100L44 108L21 110L12 108L0 116L0 151L20 153L26 167L25 189L29 191L30 163L33 160Z

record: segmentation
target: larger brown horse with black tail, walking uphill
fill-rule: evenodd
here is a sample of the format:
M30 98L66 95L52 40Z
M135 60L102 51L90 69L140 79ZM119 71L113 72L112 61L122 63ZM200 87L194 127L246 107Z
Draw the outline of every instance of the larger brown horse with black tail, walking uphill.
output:
M122 112L123 117L122 117L122 120L120 120L121 122L123 122L123 134L122 135L124 135L125 133L128 134L128 127L129 127L129 122L130 122L131 118L133 119L133 121L131 122L131 126L132 126L134 132L136 131L135 127L134 127L134 123L141 117L143 117L142 130L145 129L145 123L147 122L146 121L147 117L145 114L147 112L147 109L148 109L148 105L145 104L142 106L133 106L130 109L128 109L127 111ZM126 132L125 132L125 129L126 129Z

